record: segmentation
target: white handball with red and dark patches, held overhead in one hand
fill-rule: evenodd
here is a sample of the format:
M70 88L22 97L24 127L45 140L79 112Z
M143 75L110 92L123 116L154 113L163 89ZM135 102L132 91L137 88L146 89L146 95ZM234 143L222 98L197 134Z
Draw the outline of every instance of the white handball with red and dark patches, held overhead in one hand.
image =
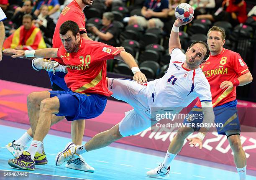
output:
M179 4L175 9L175 17L180 18L183 22L189 21L194 15L194 10L187 3Z

